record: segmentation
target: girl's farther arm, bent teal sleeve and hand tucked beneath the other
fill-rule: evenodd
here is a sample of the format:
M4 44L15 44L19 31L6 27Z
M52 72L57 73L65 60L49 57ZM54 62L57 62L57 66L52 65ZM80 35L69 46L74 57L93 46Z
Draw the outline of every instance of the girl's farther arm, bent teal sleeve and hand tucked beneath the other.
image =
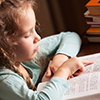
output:
M55 55L46 71L46 77L50 77L69 57L77 55L80 50L81 40L74 32L62 32L44 38L40 41L41 44L44 44L44 47L40 46L40 49L44 49L45 55Z

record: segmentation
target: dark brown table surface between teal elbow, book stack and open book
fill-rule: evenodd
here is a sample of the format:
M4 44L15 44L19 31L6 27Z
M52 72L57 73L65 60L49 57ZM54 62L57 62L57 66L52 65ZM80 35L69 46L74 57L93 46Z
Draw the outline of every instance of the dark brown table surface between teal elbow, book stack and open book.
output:
M84 34L80 37L82 39L82 46L77 55L78 57L100 52L100 43L89 43L87 38L84 37Z

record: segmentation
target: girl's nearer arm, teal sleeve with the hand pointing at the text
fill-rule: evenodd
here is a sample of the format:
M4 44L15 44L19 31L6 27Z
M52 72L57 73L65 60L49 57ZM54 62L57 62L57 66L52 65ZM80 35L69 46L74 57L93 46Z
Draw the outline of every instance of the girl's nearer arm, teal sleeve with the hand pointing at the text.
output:
M84 71L83 64L91 63L93 62L82 61L76 57L65 61L40 93L29 89L24 79L14 72L9 70L10 74L5 73L5 69L5 72L1 71L0 73L0 80L4 79L0 82L0 99L62 100L64 93L69 88L67 78L75 73L79 75ZM77 72L77 70L79 71Z

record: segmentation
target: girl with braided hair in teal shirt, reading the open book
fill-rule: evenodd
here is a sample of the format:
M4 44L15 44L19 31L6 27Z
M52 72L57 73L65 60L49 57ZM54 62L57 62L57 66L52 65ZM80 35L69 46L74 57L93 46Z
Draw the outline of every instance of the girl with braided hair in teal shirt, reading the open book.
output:
M74 32L40 40L34 10L35 0L0 1L0 100L62 100L67 79L93 63L73 57L81 45ZM36 83L51 58L46 71L51 79L38 94Z

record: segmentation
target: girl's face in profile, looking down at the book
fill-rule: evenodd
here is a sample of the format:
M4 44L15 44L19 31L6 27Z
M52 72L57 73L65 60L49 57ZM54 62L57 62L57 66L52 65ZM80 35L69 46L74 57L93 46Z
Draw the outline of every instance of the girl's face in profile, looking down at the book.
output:
M20 29L18 30L17 40L17 62L32 60L38 50L40 36L35 31L35 14L32 8L27 9L19 17Z

